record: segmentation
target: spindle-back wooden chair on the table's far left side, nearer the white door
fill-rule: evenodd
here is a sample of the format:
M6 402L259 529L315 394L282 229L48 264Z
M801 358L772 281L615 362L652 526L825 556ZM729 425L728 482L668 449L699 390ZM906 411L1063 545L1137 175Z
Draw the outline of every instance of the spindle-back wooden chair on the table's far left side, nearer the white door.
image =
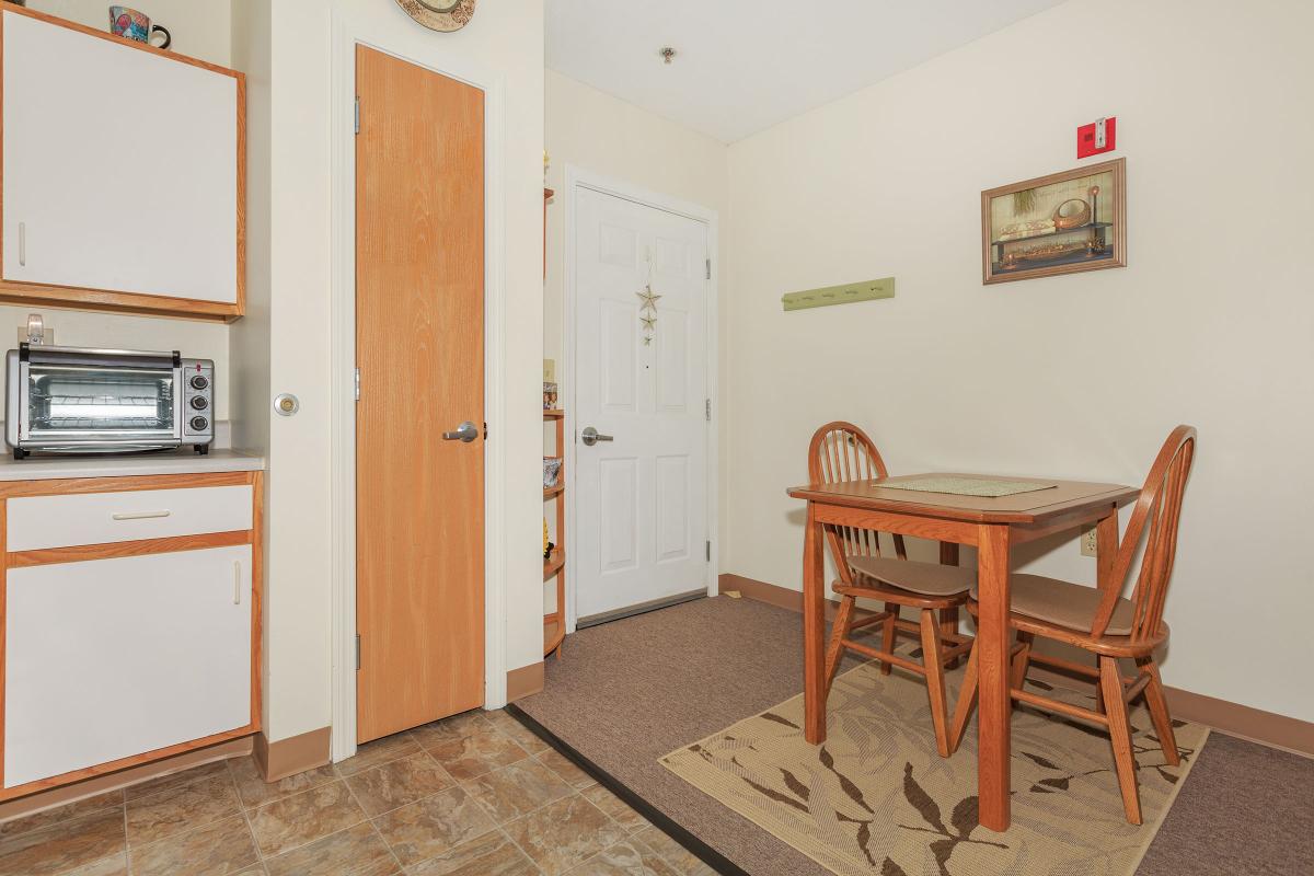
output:
M886 464L875 443L853 423L827 423L812 436L808 448L808 475L812 483L845 483L887 477ZM880 533L872 529L828 525L825 528L830 557L840 573L832 590L840 596L840 608L830 628L825 658L827 691L834 680L844 651L853 650L880 661L880 671L892 666L916 672L926 679L930 716L936 728L936 749L949 756L949 717L945 704L945 666L951 665L971 647L972 640L946 629L936 612L957 617L958 607L967 603L967 591L976 580L971 569L915 562L908 559L903 536L894 536L895 556L882 556ZM884 611L858 619L857 599L872 599ZM899 617L900 605L918 609L918 623ZM853 630L882 625L880 647L855 642ZM894 653L895 636L905 632L921 640L921 663ZM949 647L945 647L946 642Z

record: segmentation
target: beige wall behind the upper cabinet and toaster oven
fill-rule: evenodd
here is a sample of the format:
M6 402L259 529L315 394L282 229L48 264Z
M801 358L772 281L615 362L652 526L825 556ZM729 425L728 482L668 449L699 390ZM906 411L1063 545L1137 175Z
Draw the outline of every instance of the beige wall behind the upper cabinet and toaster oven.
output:
M100 0L30 0L28 8L91 28L108 30L109 3ZM229 66L229 0L194 3L192 0L152 0L141 5L148 14L159 16L173 35L177 51ZM142 106L142 112L151 112ZM124 317L54 307L0 306L0 351L11 349L18 340L18 327L28 324L28 314L39 313L55 341L68 347L109 347L122 349L180 349L184 356L213 359L215 366L215 416L227 419L229 411L229 327L185 319Z

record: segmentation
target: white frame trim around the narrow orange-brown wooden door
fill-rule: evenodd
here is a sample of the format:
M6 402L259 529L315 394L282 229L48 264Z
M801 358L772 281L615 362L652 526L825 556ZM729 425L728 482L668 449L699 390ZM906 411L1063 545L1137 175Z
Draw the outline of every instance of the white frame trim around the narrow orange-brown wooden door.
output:
M506 377L505 77L453 58L442 41L392 21L332 12L332 737L331 756L356 753L356 46L393 55L484 92L484 416L494 437L484 445L484 704L506 704L506 540L503 502Z

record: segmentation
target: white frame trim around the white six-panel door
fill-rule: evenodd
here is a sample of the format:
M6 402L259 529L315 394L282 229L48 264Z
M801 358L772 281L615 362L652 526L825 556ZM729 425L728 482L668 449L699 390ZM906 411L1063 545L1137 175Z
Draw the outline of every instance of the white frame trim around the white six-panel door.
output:
M719 519L719 487L720 487L720 344L719 338L719 314L720 314L720 244L717 236L719 215L716 210L711 208L702 206L699 204L692 204L689 201L681 201L666 194L652 192L637 185L632 185L624 180L618 180L615 177L603 176L602 173L594 173L586 168L577 164L566 164L566 185L565 185L565 259L562 264L565 265L565 289L562 301L562 357L565 359L565 369L561 376L558 376L558 385L564 387L562 398L566 399L565 406L565 436L566 447L562 453L564 461L562 468L566 474L566 532L579 532L578 521L576 519L576 496L579 491L576 489L576 448L577 443L574 435L578 429L578 423L576 423L576 294L577 294L577 265L576 265L576 221L578 218L578 204L577 197L579 189L590 189L600 194L610 194L612 197L624 198L625 201L633 201L635 204L641 204L643 206L649 206L657 210L664 210L666 213L674 213L675 215L682 215L695 222L702 222L707 226L707 257L712 260L712 276L707 280L707 398L712 399L712 419L707 424L707 535L706 538L711 540L712 550L711 559L707 562L707 595L715 596L720 592L719 590L719 575L720 569L720 519ZM566 561L566 569L569 570L569 557ZM578 569L578 563L576 566ZM566 633L576 632L576 624L578 621L578 613L576 607L577 588L579 586L579 577L574 574L566 575Z

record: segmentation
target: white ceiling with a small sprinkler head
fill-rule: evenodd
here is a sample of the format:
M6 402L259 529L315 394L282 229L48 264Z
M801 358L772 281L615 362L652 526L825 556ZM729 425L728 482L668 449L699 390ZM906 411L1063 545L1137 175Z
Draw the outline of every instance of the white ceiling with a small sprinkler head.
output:
M1059 3L548 0L547 63L732 143Z

